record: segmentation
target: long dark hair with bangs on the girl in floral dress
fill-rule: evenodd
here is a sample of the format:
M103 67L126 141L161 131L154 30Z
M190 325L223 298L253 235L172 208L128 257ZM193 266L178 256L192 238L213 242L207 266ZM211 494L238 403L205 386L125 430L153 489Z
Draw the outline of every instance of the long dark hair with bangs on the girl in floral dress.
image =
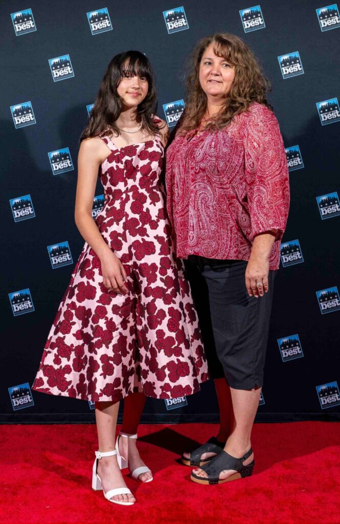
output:
M159 134L159 129L153 122L153 115L157 110L157 95L151 64L145 54L139 51L125 51L116 54L107 66L89 121L80 136L80 142L84 138L98 136L108 128L113 131L113 133L110 131L111 136L120 134L116 120L122 111L123 102L117 93L117 86L122 78L129 75L145 77L149 84L145 99L137 106L137 123L142 123L142 127L150 135Z

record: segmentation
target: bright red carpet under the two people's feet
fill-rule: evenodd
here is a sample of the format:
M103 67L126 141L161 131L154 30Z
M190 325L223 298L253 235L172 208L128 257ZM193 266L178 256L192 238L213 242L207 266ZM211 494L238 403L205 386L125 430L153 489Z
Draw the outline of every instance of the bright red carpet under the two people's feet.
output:
M340 424L255 424L253 476L219 486L190 481L182 449L213 424L142 425L139 449L154 472L137 498L111 504L90 486L94 425L3 425L1 524L339 524ZM127 471L127 470L125 470Z

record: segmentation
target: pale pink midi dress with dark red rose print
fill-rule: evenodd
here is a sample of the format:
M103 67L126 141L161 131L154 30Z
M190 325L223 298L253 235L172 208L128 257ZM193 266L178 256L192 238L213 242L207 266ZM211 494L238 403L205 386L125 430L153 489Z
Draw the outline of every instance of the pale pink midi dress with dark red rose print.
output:
M108 199L97 226L127 273L128 294L103 284L101 261L85 243L43 351L33 389L83 400L191 395L208 379L182 261L173 253L160 182L163 146L111 149L102 164Z

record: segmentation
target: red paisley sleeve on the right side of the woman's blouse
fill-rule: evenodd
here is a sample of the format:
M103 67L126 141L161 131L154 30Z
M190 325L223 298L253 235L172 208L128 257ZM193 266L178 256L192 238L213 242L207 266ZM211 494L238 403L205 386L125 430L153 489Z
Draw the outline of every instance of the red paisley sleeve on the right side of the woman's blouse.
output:
M249 240L269 230L278 230L280 240L289 210L288 165L278 121L267 107L255 104L249 111L244 148Z

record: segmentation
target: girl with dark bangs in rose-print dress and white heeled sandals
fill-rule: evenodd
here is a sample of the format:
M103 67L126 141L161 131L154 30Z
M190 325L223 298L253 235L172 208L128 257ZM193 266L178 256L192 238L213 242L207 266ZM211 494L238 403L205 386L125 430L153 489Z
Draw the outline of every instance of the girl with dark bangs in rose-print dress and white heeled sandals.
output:
M81 136L75 223L85 245L33 386L95 401L92 487L123 505L135 498L119 467L141 482L152 480L136 447L146 396L191 395L207 379L190 288L164 210L160 172L168 127L155 110L148 59L138 51L117 54ZM107 200L94 221L98 170Z

